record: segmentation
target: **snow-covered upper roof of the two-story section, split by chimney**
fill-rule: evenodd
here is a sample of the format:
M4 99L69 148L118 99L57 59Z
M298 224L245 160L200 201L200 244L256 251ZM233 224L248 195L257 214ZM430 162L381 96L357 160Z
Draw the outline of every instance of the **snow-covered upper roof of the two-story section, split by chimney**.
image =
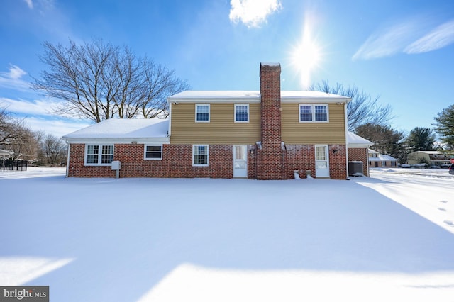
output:
M169 96L167 101L175 103L179 101L194 102L194 101L247 101L260 102L260 91L242 91L242 90L187 90L179 94ZM347 96L339 96L338 94L328 94L321 91L297 90L297 91L281 91L282 102L295 101L319 101L319 102L347 102L350 98Z

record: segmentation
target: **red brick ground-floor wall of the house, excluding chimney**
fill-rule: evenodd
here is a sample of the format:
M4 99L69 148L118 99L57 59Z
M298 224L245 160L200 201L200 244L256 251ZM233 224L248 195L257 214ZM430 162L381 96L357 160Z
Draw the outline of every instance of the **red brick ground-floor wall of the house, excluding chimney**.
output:
M314 145L286 145L280 152L282 169L270 173L270 178L292 179L297 170L301 178L315 172ZM280 148L280 145L279 145ZM330 145L330 178L345 179L345 146ZM162 160L145 160L143 144L115 144L114 160L121 162L120 177L175 177L175 178L232 178L233 145L210 145L209 167L192 166L192 145L162 145ZM337 150L332 154L332 150ZM84 165L84 144L70 145L68 177L116 177L116 172L107 166ZM260 164L255 145L248 145L248 179L260 179L257 174ZM343 161L343 162L342 162ZM344 164L343 164L344 163ZM262 167L262 169L265 169ZM277 178L279 177L279 178Z

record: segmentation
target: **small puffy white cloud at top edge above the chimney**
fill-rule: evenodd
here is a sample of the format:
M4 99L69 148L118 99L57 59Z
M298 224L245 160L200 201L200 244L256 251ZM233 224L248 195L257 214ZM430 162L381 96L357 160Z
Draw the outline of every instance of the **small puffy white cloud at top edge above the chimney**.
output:
M279 0L231 0L228 18L234 23L242 22L248 27L258 27L267 16L282 8Z

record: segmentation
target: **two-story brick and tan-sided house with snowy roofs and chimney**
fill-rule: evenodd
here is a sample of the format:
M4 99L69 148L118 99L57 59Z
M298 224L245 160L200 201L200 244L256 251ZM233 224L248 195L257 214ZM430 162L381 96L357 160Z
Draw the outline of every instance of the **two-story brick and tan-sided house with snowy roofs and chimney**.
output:
M367 163L367 143L348 155L350 98L281 91L280 73L262 63L260 91L183 91L165 120L109 119L65 135L67 177L115 177L118 161L119 177L346 179L356 153Z

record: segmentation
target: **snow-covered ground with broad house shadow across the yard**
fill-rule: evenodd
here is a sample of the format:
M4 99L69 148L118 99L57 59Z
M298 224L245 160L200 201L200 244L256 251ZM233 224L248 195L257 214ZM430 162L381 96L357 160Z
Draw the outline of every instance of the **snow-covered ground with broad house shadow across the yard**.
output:
M51 301L453 301L454 177L0 172L0 285Z

